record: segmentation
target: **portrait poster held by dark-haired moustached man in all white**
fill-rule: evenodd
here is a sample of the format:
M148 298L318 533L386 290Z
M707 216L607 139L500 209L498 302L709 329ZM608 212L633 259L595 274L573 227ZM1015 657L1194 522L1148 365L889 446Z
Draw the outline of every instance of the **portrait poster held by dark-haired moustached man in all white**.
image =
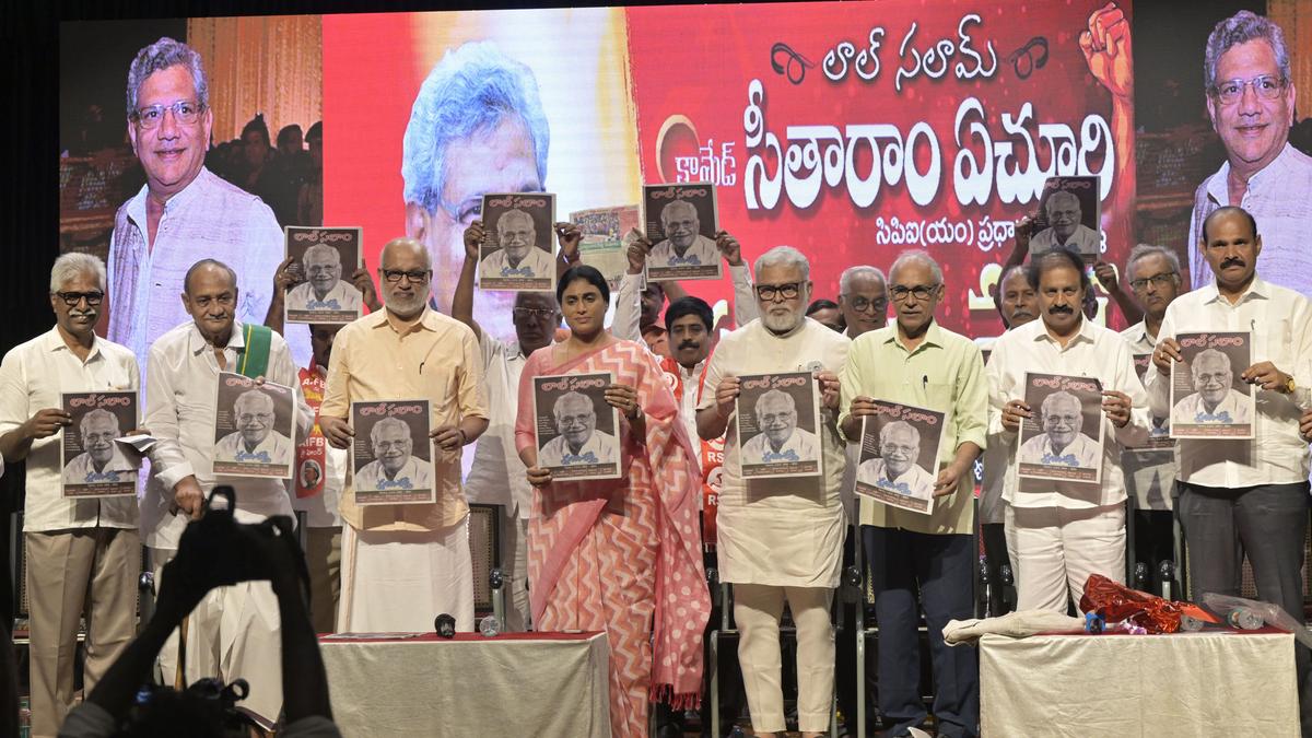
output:
M1025 403L1015 452L1022 479L1102 482L1102 382L1093 377L1025 373Z

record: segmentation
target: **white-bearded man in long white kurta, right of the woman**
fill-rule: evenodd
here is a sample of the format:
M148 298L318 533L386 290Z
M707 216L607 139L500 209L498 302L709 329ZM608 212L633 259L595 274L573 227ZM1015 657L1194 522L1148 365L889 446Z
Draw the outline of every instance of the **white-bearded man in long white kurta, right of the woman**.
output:
M761 318L724 336L706 372L698 403L698 435L715 439L729 428L716 525L720 579L733 584L735 619L743 632L739 661L757 734L782 731L783 696L778 624L785 600L798 626L798 725L819 735L833 700L833 632L829 600L838 584L845 519L838 499L842 440L833 425L838 377L851 343L804 316L811 302L810 264L796 250L771 248L756 263ZM820 475L741 475L733 406L737 377L815 372L821 406Z

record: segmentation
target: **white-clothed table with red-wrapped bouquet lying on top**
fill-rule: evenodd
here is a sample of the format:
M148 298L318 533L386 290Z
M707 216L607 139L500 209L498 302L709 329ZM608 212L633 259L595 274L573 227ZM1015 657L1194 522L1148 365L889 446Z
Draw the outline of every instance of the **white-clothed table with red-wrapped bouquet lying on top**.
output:
M979 649L987 738L1299 734L1294 636L1274 628L988 634Z

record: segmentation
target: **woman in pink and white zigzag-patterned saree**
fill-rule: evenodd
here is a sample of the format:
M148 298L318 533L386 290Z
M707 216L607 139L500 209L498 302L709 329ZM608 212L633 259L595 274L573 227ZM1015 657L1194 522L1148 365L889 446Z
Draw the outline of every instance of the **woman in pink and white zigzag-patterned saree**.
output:
M602 327L610 290L601 273L592 267L567 271L556 299L571 336L529 357L514 429L534 487L533 622L539 630L606 632L611 733L636 738L647 735L649 701L676 709L698 704L710 612L697 524L701 482L656 360ZM623 478L552 481L538 458L533 378L597 372L614 376L605 398L619 410Z

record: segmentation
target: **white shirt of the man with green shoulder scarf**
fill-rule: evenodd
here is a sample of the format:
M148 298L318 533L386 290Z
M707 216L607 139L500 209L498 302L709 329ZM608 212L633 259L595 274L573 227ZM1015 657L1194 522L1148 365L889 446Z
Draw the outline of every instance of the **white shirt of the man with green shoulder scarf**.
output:
M245 351L241 323L234 323L232 339L223 349L228 370L234 370ZM258 479L214 474L214 416L218 403L219 364L214 348L205 343L195 323L188 322L160 336L151 347L150 391L146 397L146 427L159 439L151 449L151 478L142 498L142 532L154 549L176 549L186 528L186 515L171 515L173 487L194 475L209 495L215 485L231 485L240 517L262 519L291 515L287 479ZM297 431L304 437L314 412L300 394L300 381L291 351L282 336L273 334L269 369L265 378L293 387L297 395Z

